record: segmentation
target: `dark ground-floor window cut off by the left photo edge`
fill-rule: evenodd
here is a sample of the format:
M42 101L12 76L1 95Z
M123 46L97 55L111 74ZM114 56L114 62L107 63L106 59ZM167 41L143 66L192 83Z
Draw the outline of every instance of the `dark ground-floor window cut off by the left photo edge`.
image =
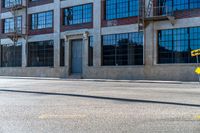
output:
M22 65L22 44L2 44L1 67L20 67Z

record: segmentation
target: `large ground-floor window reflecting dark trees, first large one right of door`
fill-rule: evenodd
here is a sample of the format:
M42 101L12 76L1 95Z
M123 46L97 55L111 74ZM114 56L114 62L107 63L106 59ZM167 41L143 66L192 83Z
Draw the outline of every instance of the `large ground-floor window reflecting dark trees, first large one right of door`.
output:
M143 65L143 33L103 36L103 65Z

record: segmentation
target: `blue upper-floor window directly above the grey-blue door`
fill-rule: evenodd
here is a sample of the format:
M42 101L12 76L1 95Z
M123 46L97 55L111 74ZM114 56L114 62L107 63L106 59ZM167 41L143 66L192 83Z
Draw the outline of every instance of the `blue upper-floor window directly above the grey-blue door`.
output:
M64 25L92 22L92 4L64 9Z

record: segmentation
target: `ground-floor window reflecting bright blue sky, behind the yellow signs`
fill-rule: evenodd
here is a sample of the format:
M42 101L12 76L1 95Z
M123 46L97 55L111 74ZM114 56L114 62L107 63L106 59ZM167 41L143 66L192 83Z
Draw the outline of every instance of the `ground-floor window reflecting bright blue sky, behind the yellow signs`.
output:
M200 27L158 31L158 63L195 63L191 50L200 48Z

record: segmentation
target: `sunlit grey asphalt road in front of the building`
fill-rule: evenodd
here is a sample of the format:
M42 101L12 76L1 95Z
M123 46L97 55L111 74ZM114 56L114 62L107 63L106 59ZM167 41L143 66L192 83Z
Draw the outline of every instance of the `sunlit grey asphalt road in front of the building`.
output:
M0 133L200 133L200 84L0 77Z

